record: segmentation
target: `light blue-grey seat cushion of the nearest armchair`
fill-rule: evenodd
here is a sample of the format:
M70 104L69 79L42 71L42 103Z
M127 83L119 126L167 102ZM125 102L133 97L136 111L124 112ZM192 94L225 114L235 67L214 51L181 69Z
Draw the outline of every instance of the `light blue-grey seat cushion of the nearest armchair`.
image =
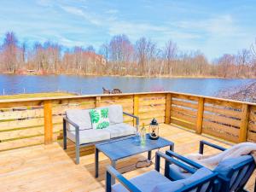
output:
M156 171L146 172L143 175L131 178L130 181L137 187L137 189L140 189L141 191L148 191L148 192L152 191L152 189L154 189L157 183L170 182L168 178L161 175L160 172L156 172ZM120 183L114 184L112 186L112 191L128 192L128 190L125 189L125 187Z

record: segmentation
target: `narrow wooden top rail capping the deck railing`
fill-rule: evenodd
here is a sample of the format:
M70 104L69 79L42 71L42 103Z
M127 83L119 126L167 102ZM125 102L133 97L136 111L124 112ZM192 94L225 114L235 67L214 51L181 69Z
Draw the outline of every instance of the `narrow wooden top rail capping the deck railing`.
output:
M241 102L236 100L230 100L230 99L224 99L214 96L201 96L201 95L195 95L195 94L189 94L189 93L182 93L182 92L175 92L175 91L156 91L156 92L136 92L136 93L121 93L121 94L94 94L94 95L83 95L83 96L52 96L52 97L37 97L37 98L27 98L27 99L0 99L0 103L9 103L9 102L40 102L40 101L54 101L54 100L65 100L65 99L82 99L82 98L90 98L90 97L96 97L96 96L133 96L133 95L148 95L148 94L177 94L182 96L194 96L198 98L207 98L212 100L218 100L223 102L235 102L239 104L247 104L247 105L253 105L256 106L256 103L253 102Z

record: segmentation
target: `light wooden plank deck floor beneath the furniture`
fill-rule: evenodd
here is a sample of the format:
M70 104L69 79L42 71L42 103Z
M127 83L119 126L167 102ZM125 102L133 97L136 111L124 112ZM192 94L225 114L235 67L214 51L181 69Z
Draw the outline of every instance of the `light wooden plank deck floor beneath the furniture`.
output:
M175 151L180 154L196 153L201 139L229 147L228 143L221 143L172 125L161 125L160 135L174 142ZM165 151L165 148L161 151ZM213 154L217 151L207 148L206 152ZM1 152L0 191L104 191L104 167L109 164L108 158L100 155L100 177L96 179L94 154L88 154L87 149L84 149L84 154L87 155L82 156L80 165L76 166L73 162L73 149L64 151L61 143ZM137 159L143 155L119 161L119 172L126 172L125 177L129 178L154 169L154 166L135 169ZM247 183L250 191L253 191L254 181L255 174Z

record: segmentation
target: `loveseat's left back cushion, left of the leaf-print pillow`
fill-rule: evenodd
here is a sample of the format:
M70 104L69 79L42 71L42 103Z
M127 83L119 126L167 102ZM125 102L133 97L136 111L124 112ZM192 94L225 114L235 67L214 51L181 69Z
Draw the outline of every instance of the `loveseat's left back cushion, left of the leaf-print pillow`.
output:
M68 109L66 111L68 119L71 119L74 123L79 125L79 130L92 129L90 122L90 113L87 109ZM70 131L75 131L73 125L69 125Z

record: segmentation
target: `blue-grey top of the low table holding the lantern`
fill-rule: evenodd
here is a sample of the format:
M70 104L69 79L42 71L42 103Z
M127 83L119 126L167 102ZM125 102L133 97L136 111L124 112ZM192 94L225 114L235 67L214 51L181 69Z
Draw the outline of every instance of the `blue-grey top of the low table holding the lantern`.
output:
M141 154L171 145L173 145L173 143L163 137L159 137L157 140L151 140L147 135L144 146L140 144L138 137L128 137L108 143L96 144L96 148L107 155L110 160L120 160L134 154Z

